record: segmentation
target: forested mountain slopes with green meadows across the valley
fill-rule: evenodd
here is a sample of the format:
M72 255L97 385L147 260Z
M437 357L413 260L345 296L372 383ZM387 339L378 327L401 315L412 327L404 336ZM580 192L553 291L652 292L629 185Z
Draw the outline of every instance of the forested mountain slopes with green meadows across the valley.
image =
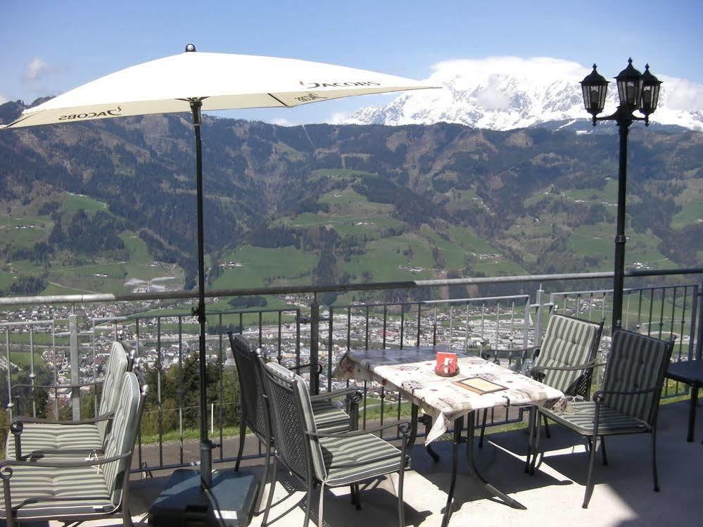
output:
M0 105L0 122L23 108ZM210 287L612 269L612 136L208 116L202 129ZM187 115L1 132L0 290L192 286L194 165ZM633 127L627 234L628 265L703 261L702 132Z

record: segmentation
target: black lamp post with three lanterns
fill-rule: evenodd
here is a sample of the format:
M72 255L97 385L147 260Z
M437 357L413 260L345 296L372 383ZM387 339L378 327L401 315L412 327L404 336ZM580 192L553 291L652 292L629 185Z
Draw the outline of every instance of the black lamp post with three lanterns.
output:
M582 81L583 105L593 115L593 126L598 121L615 121L620 131L620 158L618 170L618 218L615 234L615 278L613 284L613 329L622 325L623 288L625 282L625 198L627 185L627 137L633 121L650 124L650 115L657 109L659 86L661 81L650 73L650 65L645 65L644 74L628 60L627 68L622 70L615 80L618 84L620 105L615 113L607 117L597 117L605 106L605 95L609 82L596 71L595 64ZM644 117L634 115L639 110Z

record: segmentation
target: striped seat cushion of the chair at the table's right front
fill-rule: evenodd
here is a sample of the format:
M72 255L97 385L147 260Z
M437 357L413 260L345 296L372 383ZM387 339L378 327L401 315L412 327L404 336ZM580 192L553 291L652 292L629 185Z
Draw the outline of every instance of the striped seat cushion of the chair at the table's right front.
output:
M552 412L544 408L540 408L540 412L584 436L592 435L595 402L576 401L571 403L571 408L574 413ZM599 436L607 436L614 433L637 433L647 430L649 430L649 426L644 421L601 405L598 419Z

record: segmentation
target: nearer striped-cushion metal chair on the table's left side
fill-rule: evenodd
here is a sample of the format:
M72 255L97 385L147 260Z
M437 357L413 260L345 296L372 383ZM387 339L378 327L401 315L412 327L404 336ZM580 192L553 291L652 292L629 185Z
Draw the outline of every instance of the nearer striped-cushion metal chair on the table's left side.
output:
M406 453L410 440L409 424L386 424L373 430L322 432L315 425L312 401L300 376L280 364L269 362L265 365L263 378L275 446L272 483L263 525L267 525L280 461L307 487L308 507L303 527L308 527L310 522L315 486L319 485L317 525L322 526L325 487L350 485L352 492L358 494L357 485L362 481L394 472L398 472L398 522L404 527L403 478L405 468L410 464ZM396 427L403 436L401 450L373 435Z

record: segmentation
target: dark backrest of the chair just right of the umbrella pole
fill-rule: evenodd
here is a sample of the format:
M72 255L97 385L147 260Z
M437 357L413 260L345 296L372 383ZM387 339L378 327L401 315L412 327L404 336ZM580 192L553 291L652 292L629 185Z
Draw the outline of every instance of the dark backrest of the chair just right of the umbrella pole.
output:
M239 376L239 400L242 419L253 433L266 443L270 441L270 421L261 386L260 360L251 345L241 335L230 331L229 344Z

